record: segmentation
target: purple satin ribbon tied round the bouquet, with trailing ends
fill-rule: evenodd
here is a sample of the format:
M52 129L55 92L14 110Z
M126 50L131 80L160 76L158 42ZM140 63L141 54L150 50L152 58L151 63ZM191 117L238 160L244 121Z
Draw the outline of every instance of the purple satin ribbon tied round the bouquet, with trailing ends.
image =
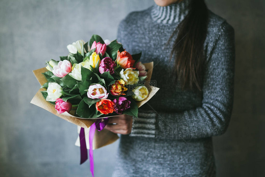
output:
M93 144L92 143L93 143L94 134L95 134L96 129L98 131L101 131L102 129L104 129L104 127L107 124L108 124L108 118L98 119L96 120L94 124L91 125L90 130L89 130L89 161L90 161L90 171L93 177L94 177L94 160L93 160ZM88 159L85 131L83 127L81 127L79 138L80 138L80 152L81 152L80 164L82 164Z

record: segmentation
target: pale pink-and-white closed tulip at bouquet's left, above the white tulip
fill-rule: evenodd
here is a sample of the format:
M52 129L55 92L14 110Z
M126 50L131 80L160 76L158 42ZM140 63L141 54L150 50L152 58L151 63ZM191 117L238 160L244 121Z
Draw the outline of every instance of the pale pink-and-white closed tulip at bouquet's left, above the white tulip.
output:
M72 71L72 64L68 60L59 61L58 65L53 67L52 73L59 77L63 78L65 75Z

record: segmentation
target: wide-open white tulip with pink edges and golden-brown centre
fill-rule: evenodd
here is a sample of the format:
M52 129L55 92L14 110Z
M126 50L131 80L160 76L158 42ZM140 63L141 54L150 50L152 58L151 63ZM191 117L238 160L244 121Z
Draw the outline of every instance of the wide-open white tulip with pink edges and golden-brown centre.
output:
M108 97L107 90L100 84L91 85L88 88L88 98L104 99Z

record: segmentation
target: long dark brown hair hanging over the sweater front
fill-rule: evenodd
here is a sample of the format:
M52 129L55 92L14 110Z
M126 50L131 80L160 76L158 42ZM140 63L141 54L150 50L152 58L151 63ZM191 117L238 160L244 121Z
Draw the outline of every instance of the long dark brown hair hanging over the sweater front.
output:
M182 90L201 91L208 10L204 0L191 0L189 8L189 13L172 34L177 32L170 55L172 58L175 54L173 80L180 82Z

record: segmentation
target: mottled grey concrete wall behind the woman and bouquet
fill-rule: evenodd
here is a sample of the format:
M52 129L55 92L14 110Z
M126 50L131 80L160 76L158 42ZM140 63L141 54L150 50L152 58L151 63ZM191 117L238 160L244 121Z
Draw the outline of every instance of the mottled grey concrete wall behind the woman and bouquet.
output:
M264 1L207 0L236 34L234 111L227 132L214 137L218 177L265 175ZM67 55L66 45L96 33L115 39L130 11L153 0L0 1L0 174L91 176L79 165L77 129L30 104L39 89L32 70ZM94 151L96 176L111 176L118 141Z

